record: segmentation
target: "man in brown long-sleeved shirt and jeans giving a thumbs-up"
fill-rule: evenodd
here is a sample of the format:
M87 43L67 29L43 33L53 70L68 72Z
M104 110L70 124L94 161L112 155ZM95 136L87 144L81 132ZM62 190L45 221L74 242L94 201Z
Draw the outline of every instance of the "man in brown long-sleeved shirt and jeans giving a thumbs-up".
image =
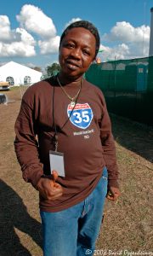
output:
M59 43L59 74L26 90L16 120L14 147L23 177L40 195L45 256L93 255L105 196L115 201L120 195L105 99L83 79L98 51L93 24L68 26ZM60 153L62 175L52 168Z

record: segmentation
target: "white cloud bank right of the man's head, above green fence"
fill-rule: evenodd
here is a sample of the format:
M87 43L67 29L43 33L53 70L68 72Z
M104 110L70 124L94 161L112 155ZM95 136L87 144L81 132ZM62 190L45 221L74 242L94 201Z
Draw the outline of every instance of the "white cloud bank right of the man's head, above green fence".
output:
M150 41L150 26L133 27L129 22L116 22L111 32L102 36L102 41L111 47L104 47L101 54L108 59L130 59L148 56ZM102 47L102 46L101 46Z

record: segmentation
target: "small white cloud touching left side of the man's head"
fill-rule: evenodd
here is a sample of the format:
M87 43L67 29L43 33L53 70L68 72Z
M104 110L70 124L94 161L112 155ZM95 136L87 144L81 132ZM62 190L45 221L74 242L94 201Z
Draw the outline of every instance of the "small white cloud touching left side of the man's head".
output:
M56 36L54 38L50 38L47 41L38 41L38 45L41 50L41 54L52 54L52 53L58 53L59 50L59 36Z

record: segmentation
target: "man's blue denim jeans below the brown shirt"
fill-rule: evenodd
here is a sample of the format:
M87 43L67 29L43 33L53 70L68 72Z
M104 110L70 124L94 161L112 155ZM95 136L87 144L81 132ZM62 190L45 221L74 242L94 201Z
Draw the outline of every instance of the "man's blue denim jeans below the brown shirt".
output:
M73 207L40 212L44 256L93 255L103 217L108 173L106 167L96 188Z

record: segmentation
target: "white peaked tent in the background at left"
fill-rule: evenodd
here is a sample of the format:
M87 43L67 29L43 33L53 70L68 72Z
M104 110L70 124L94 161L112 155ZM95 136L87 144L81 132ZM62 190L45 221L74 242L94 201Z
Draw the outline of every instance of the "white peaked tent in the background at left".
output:
M8 81L11 85L34 84L41 80L42 72L10 61L0 67L0 81Z

